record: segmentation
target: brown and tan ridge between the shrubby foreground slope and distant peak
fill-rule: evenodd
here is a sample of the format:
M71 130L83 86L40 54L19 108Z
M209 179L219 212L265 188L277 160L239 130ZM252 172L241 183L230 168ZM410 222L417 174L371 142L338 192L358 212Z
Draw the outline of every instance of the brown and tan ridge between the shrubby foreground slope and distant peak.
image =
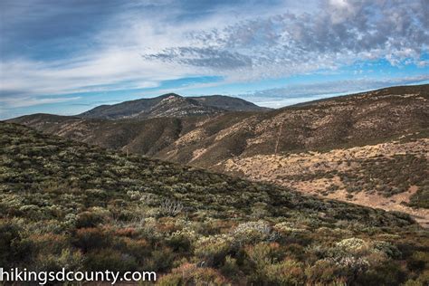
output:
M14 119L48 133L307 194L403 211L429 223L429 85L211 117Z

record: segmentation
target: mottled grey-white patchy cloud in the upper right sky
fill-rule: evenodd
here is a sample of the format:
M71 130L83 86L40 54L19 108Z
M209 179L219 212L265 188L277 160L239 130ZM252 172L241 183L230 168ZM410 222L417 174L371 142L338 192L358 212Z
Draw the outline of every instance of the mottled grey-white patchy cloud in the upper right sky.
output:
M425 1L323 1L314 12L278 12L187 34L196 46L148 57L196 68L225 67L236 79L335 69L362 60L421 61L429 44ZM229 63L229 64L228 64ZM244 68L244 71L243 71Z

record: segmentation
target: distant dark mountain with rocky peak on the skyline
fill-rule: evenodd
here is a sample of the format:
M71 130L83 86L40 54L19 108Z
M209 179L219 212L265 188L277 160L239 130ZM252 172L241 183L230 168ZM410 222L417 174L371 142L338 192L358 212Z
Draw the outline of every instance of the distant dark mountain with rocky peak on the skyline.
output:
M182 97L176 93L167 93L152 99L130 100L114 105L101 105L81 113L78 117L84 119L149 119L251 110L267 109L258 107L252 102L228 96Z

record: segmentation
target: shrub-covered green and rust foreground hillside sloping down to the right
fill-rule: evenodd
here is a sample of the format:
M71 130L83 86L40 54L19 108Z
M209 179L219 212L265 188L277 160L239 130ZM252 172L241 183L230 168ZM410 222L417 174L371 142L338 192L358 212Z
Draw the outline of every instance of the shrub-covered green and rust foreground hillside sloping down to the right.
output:
M428 234L405 214L5 122L0 146L6 269L155 271L161 285L427 283Z

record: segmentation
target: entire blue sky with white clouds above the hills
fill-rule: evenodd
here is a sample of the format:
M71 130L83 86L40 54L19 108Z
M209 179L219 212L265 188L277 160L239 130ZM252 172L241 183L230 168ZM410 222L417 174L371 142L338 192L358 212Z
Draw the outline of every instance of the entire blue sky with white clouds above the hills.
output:
M429 82L429 0L2 0L0 119L224 94L281 107Z

